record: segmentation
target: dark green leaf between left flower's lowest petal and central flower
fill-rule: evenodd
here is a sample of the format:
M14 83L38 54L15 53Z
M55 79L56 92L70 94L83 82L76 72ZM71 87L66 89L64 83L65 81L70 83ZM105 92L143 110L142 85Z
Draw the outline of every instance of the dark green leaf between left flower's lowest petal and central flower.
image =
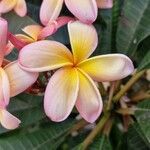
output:
M43 110L43 97L30 94L20 94L11 98L8 111L21 120L20 127L36 125L46 116ZM9 132L3 127L0 128L0 134Z

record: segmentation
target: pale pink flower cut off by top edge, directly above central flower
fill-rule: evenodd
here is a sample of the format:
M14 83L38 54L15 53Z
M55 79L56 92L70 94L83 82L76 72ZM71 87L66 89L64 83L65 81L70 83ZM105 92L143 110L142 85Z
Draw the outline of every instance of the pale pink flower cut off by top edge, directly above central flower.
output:
M67 8L75 17L84 23L91 24L97 18L98 7L111 8L112 1L113 0L43 0L40 10L40 19L45 26L49 22L56 20L62 9L63 2L65 2Z

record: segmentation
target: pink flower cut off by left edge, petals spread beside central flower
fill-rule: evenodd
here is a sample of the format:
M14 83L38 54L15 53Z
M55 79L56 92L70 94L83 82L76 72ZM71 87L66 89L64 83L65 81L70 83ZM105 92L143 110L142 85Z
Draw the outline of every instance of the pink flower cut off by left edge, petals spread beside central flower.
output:
M16 96L30 87L38 77L38 73L29 73L22 70L17 61L2 67L7 42L7 22L0 19L0 123L7 129L15 129L20 120L10 114L6 108L10 97Z

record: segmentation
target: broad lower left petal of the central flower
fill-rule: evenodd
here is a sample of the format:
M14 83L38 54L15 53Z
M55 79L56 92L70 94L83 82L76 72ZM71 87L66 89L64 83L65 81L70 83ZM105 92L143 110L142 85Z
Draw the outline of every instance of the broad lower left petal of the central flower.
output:
M79 88L77 70L59 69L50 79L44 98L46 115L53 121L65 120L73 109Z

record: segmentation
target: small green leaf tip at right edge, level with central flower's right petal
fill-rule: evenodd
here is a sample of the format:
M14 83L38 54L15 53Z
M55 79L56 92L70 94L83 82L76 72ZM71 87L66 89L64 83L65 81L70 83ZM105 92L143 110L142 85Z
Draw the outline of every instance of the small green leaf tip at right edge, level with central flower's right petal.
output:
M150 68L150 50L147 52L142 62L138 66L138 71Z

